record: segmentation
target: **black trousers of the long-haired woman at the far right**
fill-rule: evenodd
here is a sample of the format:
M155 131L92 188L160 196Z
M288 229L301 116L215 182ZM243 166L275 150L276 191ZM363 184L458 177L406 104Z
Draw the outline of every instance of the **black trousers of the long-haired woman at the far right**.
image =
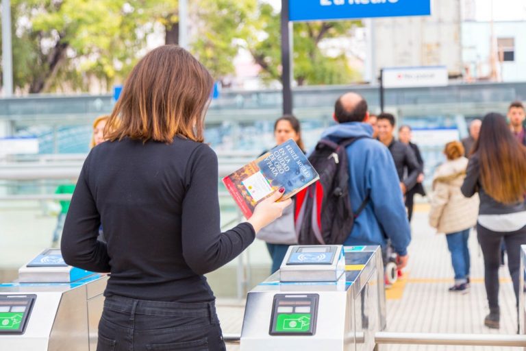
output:
M519 274L521 274L521 245L526 244L526 226L515 232L493 232L477 223L477 235L484 256L484 283L490 308L499 307L499 266L501 264L501 240L508 248L508 269L518 305Z

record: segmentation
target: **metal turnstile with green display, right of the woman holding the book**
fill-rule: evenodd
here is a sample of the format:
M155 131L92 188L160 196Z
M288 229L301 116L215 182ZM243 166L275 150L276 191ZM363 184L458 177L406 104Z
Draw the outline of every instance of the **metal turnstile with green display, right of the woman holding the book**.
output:
M249 292L240 346L373 350L385 327L379 246L291 246L279 271Z

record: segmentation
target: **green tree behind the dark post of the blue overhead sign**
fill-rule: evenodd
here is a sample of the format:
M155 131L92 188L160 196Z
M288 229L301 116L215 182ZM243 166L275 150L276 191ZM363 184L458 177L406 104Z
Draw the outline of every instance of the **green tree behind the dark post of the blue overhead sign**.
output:
M247 47L263 69L266 80L281 79L280 15L268 3L260 3L258 21L253 21L253 36ZM323 39L351 36L351 29L361 21L295 23L293 33L294 79L304 84L345 84L358 79L345 54L327 56L319 45ZM263 39L261 39L263 37Z

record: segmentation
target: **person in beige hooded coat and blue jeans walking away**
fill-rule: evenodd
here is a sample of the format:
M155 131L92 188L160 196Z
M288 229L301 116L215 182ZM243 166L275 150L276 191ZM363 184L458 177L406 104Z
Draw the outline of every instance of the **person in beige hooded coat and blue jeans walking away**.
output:
M477 223L478 197L466 198L460 186L466 178L468 159L459 141L447 143L444 148L447 162L436 169L433 176L433 196L429 211L429 224L437 232L445 233L451 263L455 271L455 285L451 292L466 293L469 288L469 231Z

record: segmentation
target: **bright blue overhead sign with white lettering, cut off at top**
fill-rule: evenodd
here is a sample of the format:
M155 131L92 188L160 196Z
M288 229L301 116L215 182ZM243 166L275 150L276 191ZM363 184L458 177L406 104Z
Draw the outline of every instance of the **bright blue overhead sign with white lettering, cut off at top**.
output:
M431 0L289 0L290 21L425 16Z

